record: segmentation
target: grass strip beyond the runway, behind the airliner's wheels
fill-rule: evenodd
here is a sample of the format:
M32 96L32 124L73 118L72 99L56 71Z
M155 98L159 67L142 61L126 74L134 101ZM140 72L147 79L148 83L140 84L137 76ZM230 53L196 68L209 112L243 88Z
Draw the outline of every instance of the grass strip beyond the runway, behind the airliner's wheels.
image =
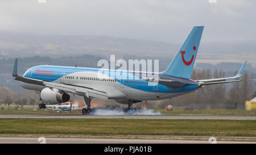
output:
M255 115L256 110L181 110L167 111L164 109L155 109L155 112L160 111L164 115ZM65 112L50 112L50 110L0 110L0 114L51 114L51 115L81 115L81 111L72 111L72 113Z

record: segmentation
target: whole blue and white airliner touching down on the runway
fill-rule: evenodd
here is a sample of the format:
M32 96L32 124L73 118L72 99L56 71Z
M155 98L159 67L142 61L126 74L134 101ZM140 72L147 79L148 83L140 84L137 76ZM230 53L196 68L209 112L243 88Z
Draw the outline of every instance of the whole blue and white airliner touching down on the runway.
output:
M82 108L83 115L92 111L90 102L93 98L114 99L127 104L127 109L130 109L133 103L143 100L168 99L191 93L203 86L241 81L247 61L234 77L190 79L203 29L204 26L192 28L168 68L160 73L39 65L28 69L23 76L18 76L18 60L15 59L13 77L20 81L24 89L40 91L42 103L39 108L46 108L46 103L68 102L71 94L83 97L86 104Z

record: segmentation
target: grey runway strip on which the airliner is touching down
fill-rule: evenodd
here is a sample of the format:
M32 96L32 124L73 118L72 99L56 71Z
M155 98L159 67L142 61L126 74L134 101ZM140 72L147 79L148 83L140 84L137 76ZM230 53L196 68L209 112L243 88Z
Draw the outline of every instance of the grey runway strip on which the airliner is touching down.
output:
M0 115L0 118L256 120L256 116L212 116L212 115Z

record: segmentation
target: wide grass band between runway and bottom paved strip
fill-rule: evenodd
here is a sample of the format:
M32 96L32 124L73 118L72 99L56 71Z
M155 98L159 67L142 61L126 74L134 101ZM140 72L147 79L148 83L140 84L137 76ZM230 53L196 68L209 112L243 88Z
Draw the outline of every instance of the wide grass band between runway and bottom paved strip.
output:
M0 134L256 136L256 121L0 119Z

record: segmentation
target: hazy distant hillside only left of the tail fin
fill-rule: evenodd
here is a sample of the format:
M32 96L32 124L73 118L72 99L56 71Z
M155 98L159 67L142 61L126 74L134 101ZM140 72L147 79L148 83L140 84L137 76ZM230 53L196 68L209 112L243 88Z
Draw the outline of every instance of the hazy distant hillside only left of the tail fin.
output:
M28 35L0 31L0 57L123 54L154 56L174 55L179 45L151 40L125 39L110 36Z

